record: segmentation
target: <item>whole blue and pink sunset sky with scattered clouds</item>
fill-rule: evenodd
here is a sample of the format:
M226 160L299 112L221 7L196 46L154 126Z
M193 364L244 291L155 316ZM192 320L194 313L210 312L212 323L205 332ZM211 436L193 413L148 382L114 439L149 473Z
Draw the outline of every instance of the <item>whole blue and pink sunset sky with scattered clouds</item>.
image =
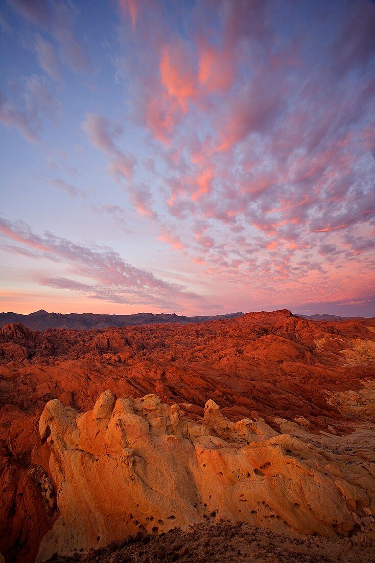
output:
M0 3L0 310L375 316L375 3Z

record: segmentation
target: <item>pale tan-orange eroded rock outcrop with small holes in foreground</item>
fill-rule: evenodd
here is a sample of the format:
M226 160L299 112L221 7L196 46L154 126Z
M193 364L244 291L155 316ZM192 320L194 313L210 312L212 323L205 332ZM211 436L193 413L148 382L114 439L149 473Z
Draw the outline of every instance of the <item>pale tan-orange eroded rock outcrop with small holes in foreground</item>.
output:
M200 421L153 394L116 400L105 391L84 414L49 401L39 433L60 516L37 560L204 519L335 535L372 518L373 428L362 428L367 443L348 464L346 437L275 425L280 432L261 418L231 422L212 400Z

